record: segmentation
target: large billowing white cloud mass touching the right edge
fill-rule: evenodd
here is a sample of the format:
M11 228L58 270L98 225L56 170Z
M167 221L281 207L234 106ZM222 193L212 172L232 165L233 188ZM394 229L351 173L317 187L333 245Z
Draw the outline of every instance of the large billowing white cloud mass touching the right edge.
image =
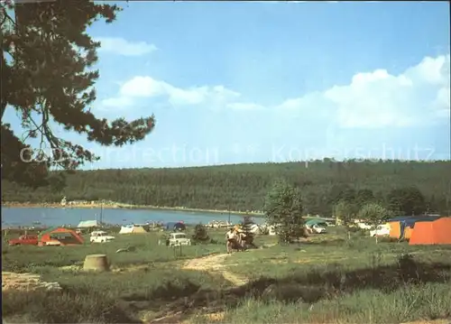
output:
M433 123L449 118L449 55L425 58L400 75L386 69L357 73L345 86L291 98L278 108L333 110L342 127L380 128Z

